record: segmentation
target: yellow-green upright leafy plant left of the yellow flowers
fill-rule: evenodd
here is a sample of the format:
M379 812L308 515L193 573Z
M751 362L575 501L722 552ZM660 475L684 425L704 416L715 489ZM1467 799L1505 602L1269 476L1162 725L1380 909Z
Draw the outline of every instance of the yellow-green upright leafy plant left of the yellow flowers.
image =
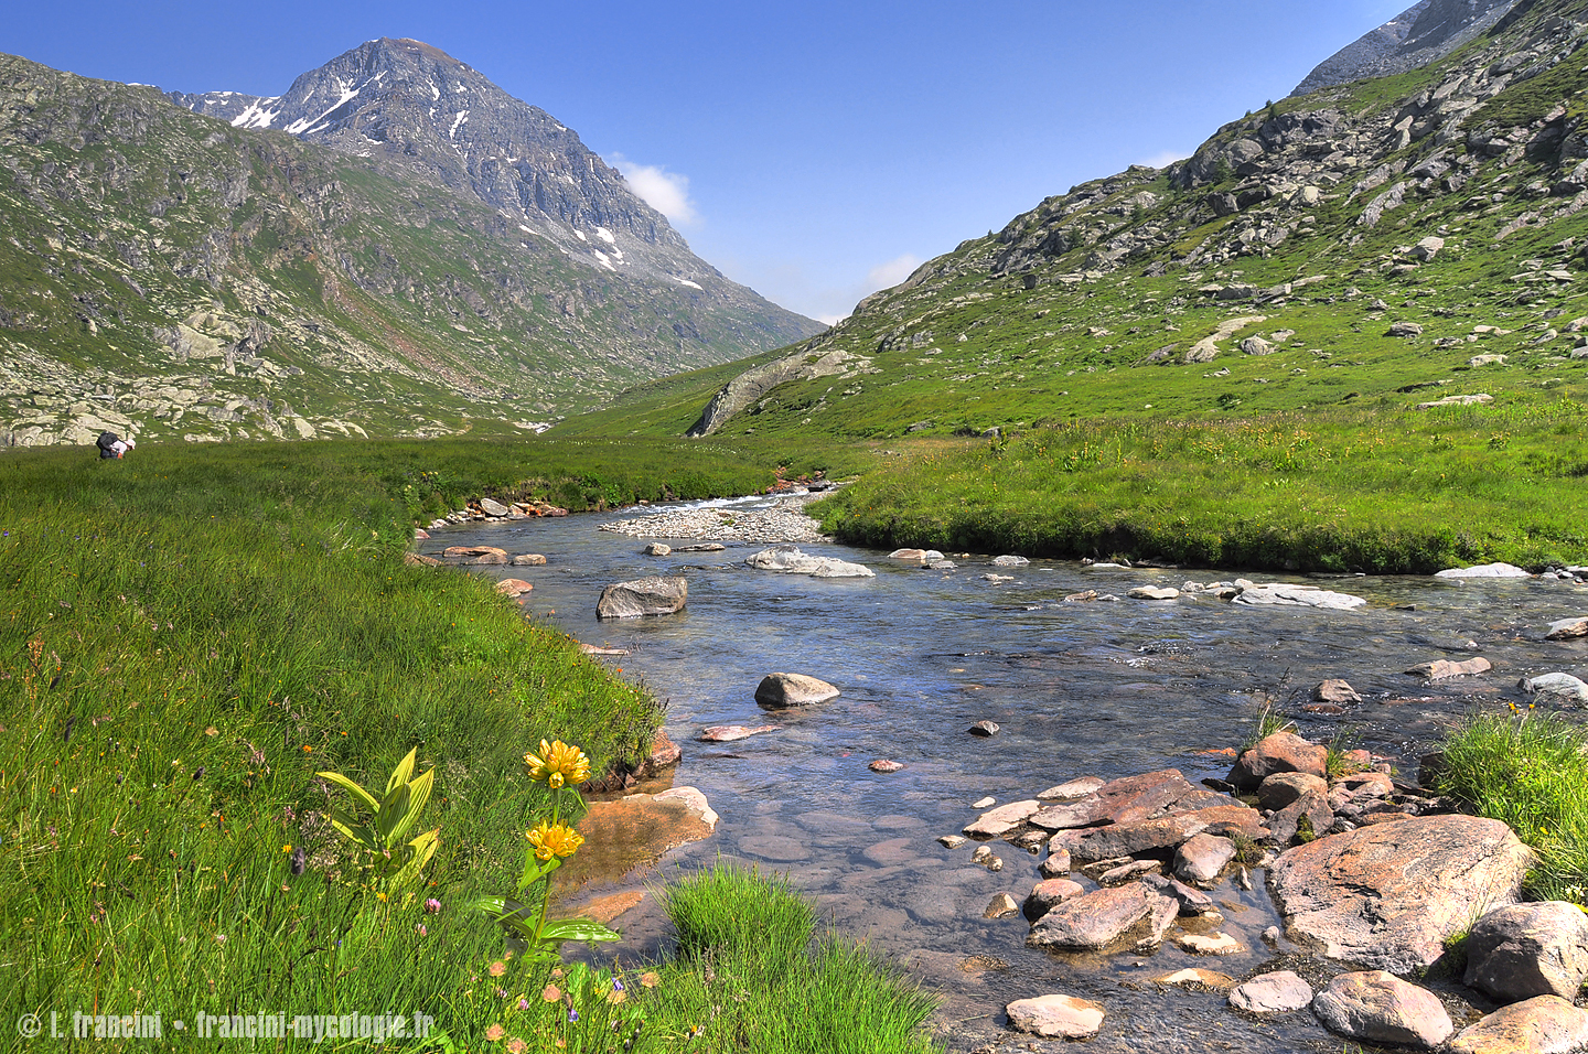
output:
M437 827L405 841L435 783L434 768L413 776L418 752L419 748L408 751L408 757L397 764L380 798L341 773L318 773L353 795L353 811L332 806L330 824L368 854L364 865L368 870L368 887L386 895L400 894L418 881L419 871L435 856L441 835Z

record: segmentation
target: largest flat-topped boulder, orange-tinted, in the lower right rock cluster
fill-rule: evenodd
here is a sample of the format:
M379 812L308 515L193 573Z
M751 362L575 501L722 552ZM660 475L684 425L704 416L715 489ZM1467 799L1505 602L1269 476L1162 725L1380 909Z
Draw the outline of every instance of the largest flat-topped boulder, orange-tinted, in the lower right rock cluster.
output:
M1515 903L1532 852L1497 819L1413 816L1318 838L1269 868L1299 944L1397 973L1439 959L1443 941Z

